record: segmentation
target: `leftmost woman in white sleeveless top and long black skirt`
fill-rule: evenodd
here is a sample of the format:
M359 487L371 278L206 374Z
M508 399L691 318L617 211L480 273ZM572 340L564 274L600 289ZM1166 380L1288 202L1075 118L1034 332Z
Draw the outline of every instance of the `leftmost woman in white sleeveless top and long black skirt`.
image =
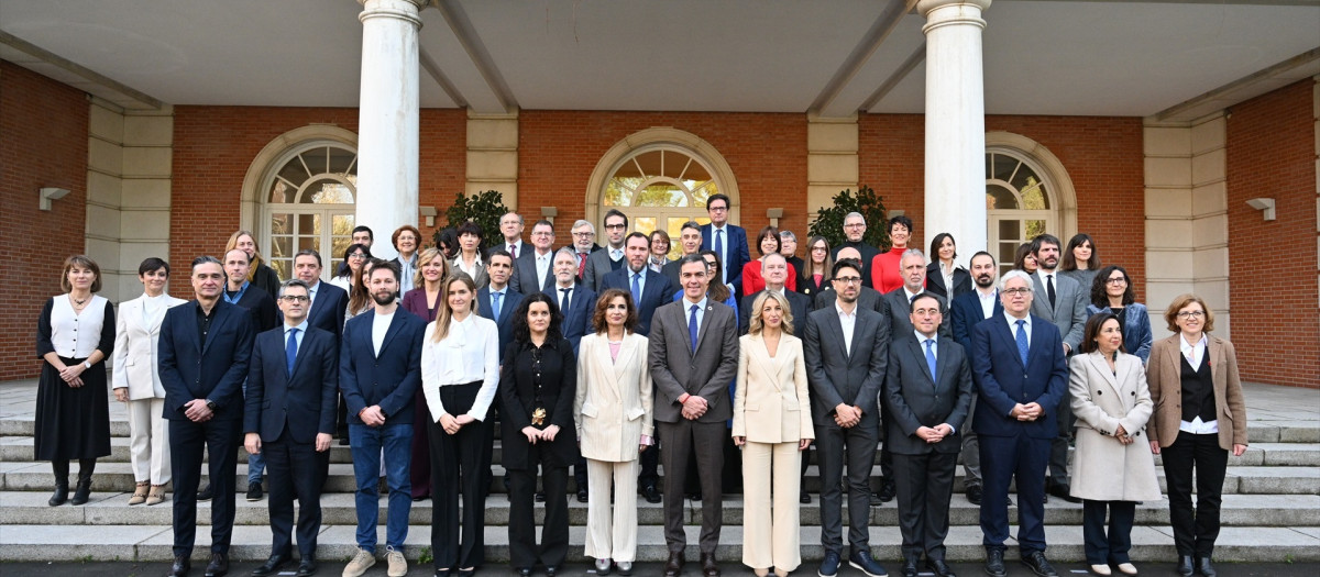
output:
M96 458L110 454L110 395L106 358L115 350L115 307L100 291L100 267L82 254L69 257L61 274L65 294L46 300L37 321L37 419L33 456L50 461L55 493L50 506L69 499L69 460L78 460L73 505L91 494Z

